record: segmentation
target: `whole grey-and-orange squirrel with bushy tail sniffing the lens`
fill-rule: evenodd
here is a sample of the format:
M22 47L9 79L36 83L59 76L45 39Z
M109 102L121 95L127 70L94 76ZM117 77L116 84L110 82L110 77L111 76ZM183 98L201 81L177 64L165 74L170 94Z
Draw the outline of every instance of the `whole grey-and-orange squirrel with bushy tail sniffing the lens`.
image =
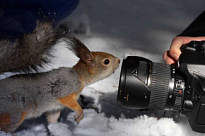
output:
M29 73L49 62L52 46L61 40L80 58L79 62L72 68ZM25 119L45 112L48 123L57 122L65 107L76 111L75 120L80 122L83 110L77 102L79 94L86 85L114 73L120 59L104 52L91 52L65 27L38 22L32 33L14 43L0 41L0 62L0 73L27 72L0 80L0 129L13 132Z

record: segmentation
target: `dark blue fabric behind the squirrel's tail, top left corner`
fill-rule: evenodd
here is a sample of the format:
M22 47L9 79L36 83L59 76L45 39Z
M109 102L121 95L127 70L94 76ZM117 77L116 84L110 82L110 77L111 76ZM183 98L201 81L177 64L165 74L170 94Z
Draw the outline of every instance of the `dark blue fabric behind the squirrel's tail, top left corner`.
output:
M78 3L79 0L0 0L0 39L32 32L37 19L59 22Z

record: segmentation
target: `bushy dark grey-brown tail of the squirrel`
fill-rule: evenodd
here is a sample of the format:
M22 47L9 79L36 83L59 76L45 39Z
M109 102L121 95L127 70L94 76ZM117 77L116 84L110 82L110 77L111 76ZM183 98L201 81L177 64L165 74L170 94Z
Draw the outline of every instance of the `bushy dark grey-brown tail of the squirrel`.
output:
M52 22L37 22L30 34L15 42L0 41L0 73L38 71L49 62L52 46L65 34L66 28L54 27Z

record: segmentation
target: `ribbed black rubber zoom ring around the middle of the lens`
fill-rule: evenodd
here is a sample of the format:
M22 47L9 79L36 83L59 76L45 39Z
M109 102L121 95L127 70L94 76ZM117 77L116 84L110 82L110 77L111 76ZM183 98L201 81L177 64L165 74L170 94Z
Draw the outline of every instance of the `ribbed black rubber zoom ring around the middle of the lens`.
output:
M163 110L169 93L170 66L153 63L149 108Z

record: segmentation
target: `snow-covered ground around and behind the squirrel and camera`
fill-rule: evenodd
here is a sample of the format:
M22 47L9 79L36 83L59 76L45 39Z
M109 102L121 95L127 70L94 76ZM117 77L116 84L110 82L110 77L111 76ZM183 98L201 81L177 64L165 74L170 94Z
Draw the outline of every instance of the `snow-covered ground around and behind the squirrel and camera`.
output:
M105 51L121 60L128 55L163 62L162 53L172 38L204 10L204 0L81 0L66 19L71 31L90 50ZM72 66L77 58L63 44L46 70ZM88 86L79 101L85 117L77 125L75 113L65 109L59 123L48 126L55 136L205 136L193 132L176 113L130 110L117 103L120 67L109 78ZM2 76L3 77L3 76ZM1 136L46 136L45 116L26 120L14 134Z

